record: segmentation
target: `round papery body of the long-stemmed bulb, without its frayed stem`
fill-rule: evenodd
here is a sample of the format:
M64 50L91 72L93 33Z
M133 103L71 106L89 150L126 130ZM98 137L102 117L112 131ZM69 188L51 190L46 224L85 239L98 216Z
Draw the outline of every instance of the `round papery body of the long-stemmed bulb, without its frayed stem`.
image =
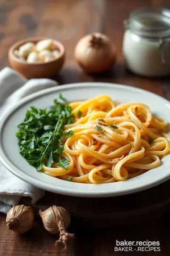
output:
M70 224L70 215L62 207L55 205L51 206L47 210L40 211L40 216L44 228L51 234L59 234L59 229L68 228Z

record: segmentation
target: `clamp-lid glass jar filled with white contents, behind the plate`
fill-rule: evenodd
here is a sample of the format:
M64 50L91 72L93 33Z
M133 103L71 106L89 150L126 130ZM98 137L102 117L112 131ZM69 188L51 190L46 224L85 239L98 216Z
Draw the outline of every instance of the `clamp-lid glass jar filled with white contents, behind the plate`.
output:
M149 77L170 74L170 10L132 12L125 21L123 55L134 73Z

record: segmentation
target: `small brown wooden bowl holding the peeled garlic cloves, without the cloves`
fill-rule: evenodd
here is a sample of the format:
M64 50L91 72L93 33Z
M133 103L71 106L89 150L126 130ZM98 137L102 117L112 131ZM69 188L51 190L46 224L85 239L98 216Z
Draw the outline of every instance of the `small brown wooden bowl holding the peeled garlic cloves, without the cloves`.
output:
M27 42L37 43L40 40L47 39L47 37L32 37L18 41L12 45L8 51L8 61L10 66L24 77L30 78L51 78L53 75L59 72L65 61L65 48L57 40L52 39L53 46L59 50L59 56L49 62L27 63L20 60L14 54L14 50L18 50L20 46Z

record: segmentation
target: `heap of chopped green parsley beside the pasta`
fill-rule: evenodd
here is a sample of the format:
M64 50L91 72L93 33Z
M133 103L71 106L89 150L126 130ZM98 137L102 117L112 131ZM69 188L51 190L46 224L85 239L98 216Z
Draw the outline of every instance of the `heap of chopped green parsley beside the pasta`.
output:
M62 95L59 95L59 99L65 101ZM54 106L44 110L31 107L16 133L20 154L37 171L42 170L42 164L51 167L53 162L68 170L68 159L61 156L64 150L61 140L63 127L73 121L72 109L66 102L54 100ZM70 130L65 136L73 134Z

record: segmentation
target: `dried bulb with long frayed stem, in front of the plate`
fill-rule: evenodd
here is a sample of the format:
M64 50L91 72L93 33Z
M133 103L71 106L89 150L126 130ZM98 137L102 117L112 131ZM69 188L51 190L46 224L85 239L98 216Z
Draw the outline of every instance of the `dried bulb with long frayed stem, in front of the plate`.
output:
M62 207L57 207L55 205L51 206L47 210L39 211L42 218L44 228L51 234L59 234L59 240L56 241L55 245L58 242L61 242L67 247L67 240L74 237L73 234L66 232L70 224L70 215Z

